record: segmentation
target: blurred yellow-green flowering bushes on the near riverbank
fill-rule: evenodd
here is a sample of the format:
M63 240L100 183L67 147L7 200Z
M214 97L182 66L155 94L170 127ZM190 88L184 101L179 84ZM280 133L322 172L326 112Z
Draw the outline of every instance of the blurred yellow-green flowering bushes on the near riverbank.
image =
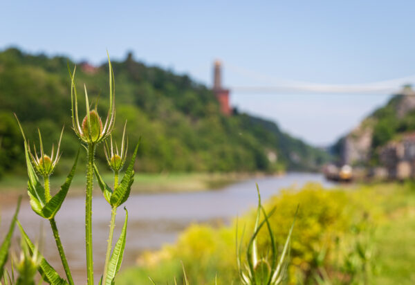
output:
M284 250L295 208L300 205L284 282L361 284L371 277L373 217L367 211L369 205L362 204L356 194L328 191L320 185L309 184L301 191L284 191L264 204L267 212L277 209L269 222L279 252ZM239 236L240 225L255 228L256 215L252 211L239 219ZM139 266L125 270L118 281L128 285L145 284L149 275L158 284L165 284L169 276L183 277L180 267L183 261L190 284L214 284L216 276L218 284L241 284L239 270L234 265L235 254L232 254L237 246L236 229L236 221L232 226L219 228L190 226L173 245L143 255ZM250 236L245 235L243 245L249 243ZM271 256L272 241L266 228L259 231L257 246L262 256Z

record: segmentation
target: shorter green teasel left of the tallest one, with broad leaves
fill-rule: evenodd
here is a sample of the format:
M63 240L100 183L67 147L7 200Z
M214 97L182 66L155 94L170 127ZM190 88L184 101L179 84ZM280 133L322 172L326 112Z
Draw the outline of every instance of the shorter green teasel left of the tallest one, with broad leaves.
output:
M16 115L15 115L16 116ZM55 170L55 167L59 161L60 158L60 143L62 141L62 134L64 129L62 128L62 132L59 138L59 143L57 145L57 151L55 153L55 147L52 145L52 150L50 153L50 156L46 155L44 153L44 146L42 141L42 134L40 133L38 129L39 134L39 149L40 149L40 158L37 155L36 147L33 147L33 151L30 149L28 140L26 140L26 136L24 134L23 127L21 127L21 124L19 122L19 119L17 118L17 123L19 124L21 134L24 138L24 150L25 150L25 156L26 156L26 167L28 169L28 196L30 198L30 205L32 206L33 211L38 214L40 217L44 219L48 219L50 223L50 228L53 232L53 237L55 238L55 243L57 246L57 250L59 252L59 257L62 261L62 266L64 267L66 278L68 281L68 284L73 285L73 277L71 274L71 270L68 265L68 261L66 259L66 255L64 252L64 247L62 246L62 241L59 236L59 231L57 229L57 224L55 221L55 216L59 209L62 206L62 203L64 202L66 198L66 194L68 194L69 187L71 186L71 182L73 180L73 176L75 175L75 169L77 165L77 160L80 154L80 151L77 151L77 155L75 157L75 162L73 163L72 169L69 172L68 176L66 177L66 181L64 184L60 187L60 190L52 196L50 194L50 175ZM42 176L44 184L42 185L41 181L39 180L38 175ZM21 227L21 224L18 223L19 228L21 229L22 236L24 239L26 239L26 243L31 243L29 237L24 233L23 228ZM33 243L32 243L33 244ZM35 250L34 246L29 246L30 250L32 250L33 255L37 255L39 258L43 258L42 255L40 255L40 252ZM42 263L39 268L42 268ZM41 270L46 270L46 268L42 268ZM49 270L49 268L48 268ZM55 271L53 268L51 269ZM53 273L53 275L57 275L57 273ZM59 282L65 282L64 279L58 278ZM46 275L46 282L51 282L51 279L48 279Z

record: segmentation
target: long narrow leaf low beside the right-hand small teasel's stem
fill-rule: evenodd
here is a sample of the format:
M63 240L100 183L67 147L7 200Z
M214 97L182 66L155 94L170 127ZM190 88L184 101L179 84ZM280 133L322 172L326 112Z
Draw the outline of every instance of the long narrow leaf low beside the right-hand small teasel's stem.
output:
M118 270L120 270L122 257L124 255L124 248L125 248L125 238L127 236L127 221L128 221L128 212L127 209L124 207L125 210L125 221L124 226L122 226L121 235L118 238L116 246L114 247L113 253L111 255L111 259L109 259L109 265L107 273L107 279L105 285L111 285L114 282L116 274Z

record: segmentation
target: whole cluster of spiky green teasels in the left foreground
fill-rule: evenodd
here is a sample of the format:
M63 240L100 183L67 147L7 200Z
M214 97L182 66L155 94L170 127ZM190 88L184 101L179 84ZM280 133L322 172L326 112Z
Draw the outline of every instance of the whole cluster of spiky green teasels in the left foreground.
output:
M21 124L16 116L17 124L21 130L21 134L24 140L24 156L26 158L26 167L28 172L28 196L30 199L30 206L37 215L46 219L50 222L50 228L53 232L53 237L56 242L57 250L59 252L59 257L62 261L62 266L64 268L66 279L59 276L55 268L53 268L48 261L42 256L42 253L39 251L39 248L33 243L30 237L26 234L24 228L21 226L21 223L17 221L17 212L19 211L19 205L15 212L15 216L12 219L10 225L10 230L6 236L5 241L0 248L0 279L4 273L3 266L6 264L8 257L8 250L10 248L10 241L12 238L12 232L15 228L15 223L19 226L21 233L21 242L22 242L22 255L21 261L17 263L17 271L19 276L15 280L13 274L13 264L12 264L12 275L8 275L8 279L4 278L3 282L10 284L35 284L35 273L38 271L39 275L42 277L44 282L47 282L51 285L73 285L73 277L71 273L71 268L69 267L68 261L66 259L66 254L64 251L64 246L59 236L59 231L55 221L55 216L59 212L62 203L66 199L66 194L68 193L69 187L73 177L75 175L75 169L77 166L77 161L80 156L80 150L86 149L86 195L85 195L85 249L86 249L86 273L87 273L87 282L89 285L94 284L94 268L93 268L93 244L92 244L92 191L93 191L93 176L98 180L98 185L102 190L102 194L107 202L111 205L111 226L109 231L109 240L107 246L107 254L105 258L105 266L101 275L99 284L104 285L113 285L115 284L116 275L120 270L122 258L124 255L124 248L127 237L127 221L128 221L128 212L125 210L125 221L124 226L122 226L120 237L116 241L115 246L113 246L113 230L115 228L115 218L117 208L120 207L123 203L129 198L131 192L131 185L134 181L134 170L133 166L136 160L136 155L138 151L138 144L133 151L131 161L128 164L128 167L124 173L124 176L118 181L118 176L120 170L124 166L125 160L127 158L127 144L125 143L125 129L122 136L122 143L120 149L120 156L118 155L118 147L116 145L113 148L113 140L111 133L113 131L114 122L116 119L116 108L115 108L115 86L114 86L114 75L113 68L111 66L110 59L108 58L109 66L109 109L107 112L107 118L102 122L101 117L98 114L98 103L95 104L95 109L90 111L89 109L89 99L86 93L86 86L84 86L85 92L85 111L86 115L83 120L79 120L78 116L78 104L77 104L77 91L75 86L75 70L73 73L69 69L69 74L71 77L71 105L72 105L72 123L73 131L80 138L81 143L78 148L77 154L75 156L75 162L71 171L65 179L64 184L60 187L60 190L53 194L50 191L50 176L55 171L55 167L61 156L60 145L62 141L62 133L59 138L59 143L57 144L57 149L55 152L55 147L52 145L50 156L46 154L42 134L37 131L39 134L39 145L37 149L40 150L40 158L36 151L36 144L33 145L33 150L31 149L28 140L24 134L24 129L21 127ZM82 122L82 123L81 123ZM110 138L110 142L107 142L107 138ZM100 143L109 143L111 149L107 148L102 152L105 153L109 168L113 170L113 189L102 179L98 172L98 167L95 165L95 149ZM115 151L114 151L115 149ZM111 150L111 151L110 151ZM40 181L39 176L43 178L43 183ZM20 199L19 199L20 203ZM50 246L49 244L47 246ZM1 284L1 282L0 282Z

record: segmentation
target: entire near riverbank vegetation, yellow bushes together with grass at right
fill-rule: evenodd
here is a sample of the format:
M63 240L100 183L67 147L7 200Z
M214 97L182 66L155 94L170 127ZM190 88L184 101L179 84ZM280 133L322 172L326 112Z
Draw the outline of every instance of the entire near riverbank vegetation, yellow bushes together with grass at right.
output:
M281 254L299 203L291 239L288 284L413 284L415 251L415 185L361 185L351 190L325 190L306 185L286 190L264 205L269 211L277 248ZM253 228L255 211L239 219ZM236 221L214 228L193 225L178 241L157 252L147 252L138 266L124 270L118 284L147 284L150 276L158 284L182 279L181 261L190 284L239 284L235 264ZM246 230L242 244L248 245ZM259 252L270 255L270 239L259 232ZM147 283L146 283L147 282Z

